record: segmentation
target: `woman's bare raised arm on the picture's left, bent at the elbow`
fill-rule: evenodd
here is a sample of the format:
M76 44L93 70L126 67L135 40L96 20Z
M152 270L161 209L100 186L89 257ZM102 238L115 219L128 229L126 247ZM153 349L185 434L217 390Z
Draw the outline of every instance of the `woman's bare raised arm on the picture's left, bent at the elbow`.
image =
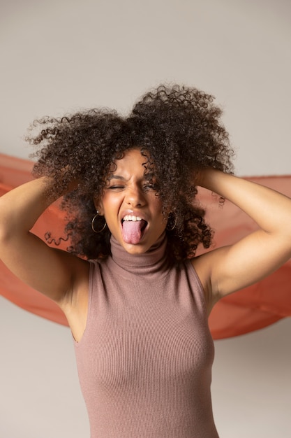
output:
M53 183L51 178L38 178L0 198L0 259L22 281L61 304L85 262L50 248L30 232L54 200L47 199Z

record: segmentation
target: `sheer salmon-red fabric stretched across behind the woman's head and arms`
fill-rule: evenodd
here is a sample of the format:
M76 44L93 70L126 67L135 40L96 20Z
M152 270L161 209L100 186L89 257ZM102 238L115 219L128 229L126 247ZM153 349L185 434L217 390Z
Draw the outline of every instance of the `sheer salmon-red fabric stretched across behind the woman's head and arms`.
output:
M31 167L32 163L28 160L0 154L0 195L31 180ZM291 176L248 179L291 197ZM212 248L234 243L257 229L255 222L240 209L227 200L221 206L218 198L207 190L200 190L200 202L207 209L207 220L215 230ZM63 217L64 213L59 211L57 204L53 204L36 222L33 232L42 239L47 230L61 236L64 233ZM66 249L66 242L61 243L61 247ZM27 311L67 325L64 313L52 300L22 283L1 262L0 293ZM258 330L287 316L291 316L291 261L263 281L221 299L211 312L209 324L214 339L222 339Z

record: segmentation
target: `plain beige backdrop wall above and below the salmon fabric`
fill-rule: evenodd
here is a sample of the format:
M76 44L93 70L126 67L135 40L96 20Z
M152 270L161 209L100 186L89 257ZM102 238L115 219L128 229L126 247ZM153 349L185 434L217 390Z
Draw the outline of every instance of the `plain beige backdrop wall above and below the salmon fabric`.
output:
M241 175L291 174L288 0L1 0L0 152L27 126L93 106L126 113L149 87L216 96ZM0 436L89 437L66 327L0 298ZM216 342L222 438L291 436L290 319ZM178 437L177 437L178 438Z

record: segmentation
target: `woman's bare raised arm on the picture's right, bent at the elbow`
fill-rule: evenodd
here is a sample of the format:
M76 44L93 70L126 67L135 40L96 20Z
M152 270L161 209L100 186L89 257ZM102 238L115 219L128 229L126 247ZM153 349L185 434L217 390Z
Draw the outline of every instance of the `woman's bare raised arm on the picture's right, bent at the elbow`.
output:
M239 206L260 227L232 246L193 260L214 299L260 281L291 257L290 198L214 169L202 171L200 185Z

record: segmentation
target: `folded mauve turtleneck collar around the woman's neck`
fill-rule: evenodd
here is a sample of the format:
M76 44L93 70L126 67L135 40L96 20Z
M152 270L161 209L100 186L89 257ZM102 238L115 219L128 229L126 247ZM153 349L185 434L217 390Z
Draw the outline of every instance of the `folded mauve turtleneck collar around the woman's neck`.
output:
M113 236L111 236L110 243L113 262L121 269L133 274L155 274L158 272L161 274L169 266L165 233L143 254L127 253Z

